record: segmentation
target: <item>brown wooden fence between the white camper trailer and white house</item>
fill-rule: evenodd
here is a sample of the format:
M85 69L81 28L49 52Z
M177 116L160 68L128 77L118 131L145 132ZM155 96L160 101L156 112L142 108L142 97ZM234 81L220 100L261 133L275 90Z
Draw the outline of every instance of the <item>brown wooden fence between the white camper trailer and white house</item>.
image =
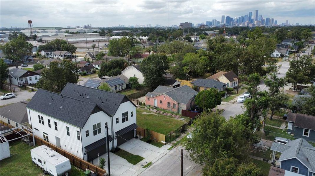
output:
M41 139L37 136L35 136L35 143L38 146L45 145L45 146L50 147L54 151L60 153L62 156L68 158L70 160L70 163L72 163L73 165L75 165L78 168L81 168L84 171L86 169L89 169L95 173L98 173L99 175L105 175L106 174L106 170L99 168L99 167L97 167L97 166L95 166L95 165L93 165L87 161L84 161L83 159L76 157L76 156L72 155L71 153L62 150L62 149L56 147L55 145L50 144L47 141L44 141L43 139Z

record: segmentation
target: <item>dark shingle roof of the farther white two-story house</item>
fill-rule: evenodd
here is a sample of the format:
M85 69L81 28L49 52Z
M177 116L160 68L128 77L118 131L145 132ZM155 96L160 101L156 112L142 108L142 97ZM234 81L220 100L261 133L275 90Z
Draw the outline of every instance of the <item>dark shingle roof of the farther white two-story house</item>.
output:
M89 88L89 87L80 86L80 85L72 84L72 83L67 83L65 88L63 88L63 90L61 91L61 93L63 95L66 95L75 99L83 99L82 97L84 97L84 101L97 104L107 114L112 115L112 116L115 115L121 103L130 101L123 94L108 92L105 90L100 90L100 89L95 89L95 88Z

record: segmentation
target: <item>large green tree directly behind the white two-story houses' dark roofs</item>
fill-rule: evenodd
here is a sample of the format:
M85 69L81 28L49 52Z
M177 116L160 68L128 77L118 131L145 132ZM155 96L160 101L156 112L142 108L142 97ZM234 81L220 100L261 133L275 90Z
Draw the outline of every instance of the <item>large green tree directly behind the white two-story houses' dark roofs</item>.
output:
M77 83L78 68L75 63L63 60L50 62L49 69L43 69L37 87L51 92L60 93L67 83Z

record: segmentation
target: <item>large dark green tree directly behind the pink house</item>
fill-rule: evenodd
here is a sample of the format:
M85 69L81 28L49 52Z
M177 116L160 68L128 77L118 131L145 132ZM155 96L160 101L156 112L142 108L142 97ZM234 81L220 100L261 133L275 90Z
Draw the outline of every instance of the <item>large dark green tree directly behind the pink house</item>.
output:
M140 69L144 76L145 85L157 88L161 83L164 83L163 75L169 69L169 61L166 55L152 54L141 62Z

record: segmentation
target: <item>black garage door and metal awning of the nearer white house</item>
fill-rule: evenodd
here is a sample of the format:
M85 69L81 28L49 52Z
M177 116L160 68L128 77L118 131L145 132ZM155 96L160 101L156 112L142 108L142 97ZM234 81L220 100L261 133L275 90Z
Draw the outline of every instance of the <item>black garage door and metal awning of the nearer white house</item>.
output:
M112 136L108 136L109 141L113 140ZM84 147L88 154L88 162L92 161L94 158L97 158L97 154L103 155L107 152L106 147L106 137L93 142L92 144Z

